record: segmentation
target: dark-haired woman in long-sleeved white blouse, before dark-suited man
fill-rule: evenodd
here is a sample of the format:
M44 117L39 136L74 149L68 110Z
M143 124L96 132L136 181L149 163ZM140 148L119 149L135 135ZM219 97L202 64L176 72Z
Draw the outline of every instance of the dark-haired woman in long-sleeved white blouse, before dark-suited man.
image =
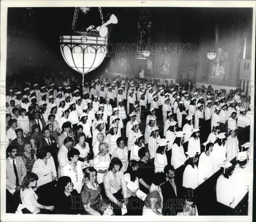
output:
M37 186L58 180L54 160L50 153L50 147L42 147L37 151L39 159L33 165L32 173L37 174Z

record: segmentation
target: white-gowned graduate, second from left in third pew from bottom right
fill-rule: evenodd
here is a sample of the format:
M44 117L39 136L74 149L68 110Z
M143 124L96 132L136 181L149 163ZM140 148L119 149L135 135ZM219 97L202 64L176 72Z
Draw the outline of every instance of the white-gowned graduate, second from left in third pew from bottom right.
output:
M182 131L178 131L175 134L176 138L174 140L172 147L171 164L173 165L174 169L177 169L178 167L185 163L187 157L184 153L184 148L182 145L184 141L184 133Z

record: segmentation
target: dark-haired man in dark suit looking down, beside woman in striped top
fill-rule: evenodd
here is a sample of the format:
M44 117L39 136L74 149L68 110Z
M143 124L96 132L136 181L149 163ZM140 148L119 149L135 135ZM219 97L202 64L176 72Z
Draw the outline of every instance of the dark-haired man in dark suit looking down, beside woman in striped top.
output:
M164 202L164 215L173 215L175 211L175 215L179 212L179 208L182 208L183 203L178 199L179 197L179 189L177 189L174 176L175 169L172 165L166 165L164 167L164 173L166 175L166 182L161 185L161 190L163 194L163 202Z

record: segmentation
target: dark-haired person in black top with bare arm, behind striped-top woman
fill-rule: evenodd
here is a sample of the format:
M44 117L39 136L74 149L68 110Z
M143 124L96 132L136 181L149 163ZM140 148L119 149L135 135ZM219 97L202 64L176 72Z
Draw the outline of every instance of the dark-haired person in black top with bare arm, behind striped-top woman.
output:
M138 178L140 182L140 190L148 193L148 189L152 184L152 175L155 174L155 167L149 162L150 153L148 149L142 147L138 151L140 160L138 161Z

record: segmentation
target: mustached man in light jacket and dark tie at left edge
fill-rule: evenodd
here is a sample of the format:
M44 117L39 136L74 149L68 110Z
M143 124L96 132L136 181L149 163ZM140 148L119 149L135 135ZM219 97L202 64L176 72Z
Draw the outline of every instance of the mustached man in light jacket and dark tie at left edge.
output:
M21 182L27 174L26 166L21 156L17 156L17 148L8 146L6 154L6 189L19 191Z

